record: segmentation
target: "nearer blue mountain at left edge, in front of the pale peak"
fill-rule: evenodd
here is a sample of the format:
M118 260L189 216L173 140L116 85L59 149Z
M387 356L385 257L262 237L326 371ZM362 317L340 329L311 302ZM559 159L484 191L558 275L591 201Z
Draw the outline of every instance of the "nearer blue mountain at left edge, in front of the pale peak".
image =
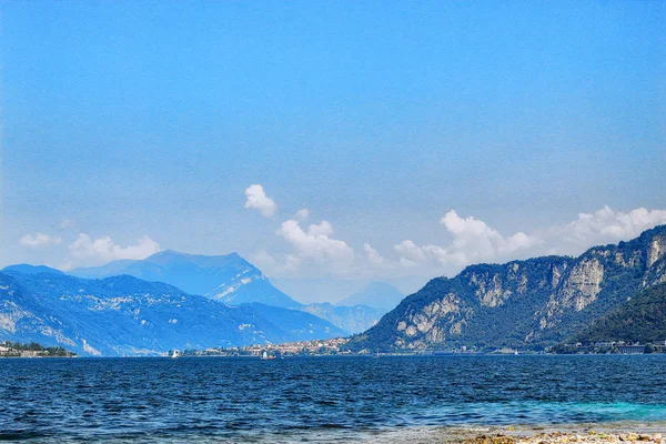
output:
M137 355L342 334L307 313L271 310L228 306L129 275L0 273L0 341L62 345L81 355Z

